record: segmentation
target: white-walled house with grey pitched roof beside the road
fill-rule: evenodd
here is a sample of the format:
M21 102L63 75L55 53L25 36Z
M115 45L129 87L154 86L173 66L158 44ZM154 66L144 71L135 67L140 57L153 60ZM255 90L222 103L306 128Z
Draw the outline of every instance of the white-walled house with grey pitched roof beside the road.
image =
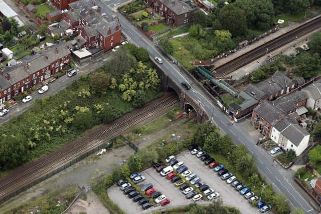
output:
M272 127L270 138L285 151L293 149L299 156L308 146L310 134L291 118L283 118Z

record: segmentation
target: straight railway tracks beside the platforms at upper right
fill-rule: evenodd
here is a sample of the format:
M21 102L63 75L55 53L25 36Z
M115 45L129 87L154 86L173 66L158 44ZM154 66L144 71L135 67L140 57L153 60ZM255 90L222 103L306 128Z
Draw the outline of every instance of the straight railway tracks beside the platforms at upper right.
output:
M321 18L317 18L315 20L312 20L311 22L308 22L304 25L301 25L300 27L297 27L293 29L292 31L289 31L282 36L279 36L255 49L252 51L249 51L234 60L215 68L215 75L217 77L224 77L233 71L249 64L250 62L253 62L254 60L264 56L266 54L266 49L268 49L267 53L273 52L276 49L296 40L299 37L304 36L305 34L308 34L318 28L321 27Z

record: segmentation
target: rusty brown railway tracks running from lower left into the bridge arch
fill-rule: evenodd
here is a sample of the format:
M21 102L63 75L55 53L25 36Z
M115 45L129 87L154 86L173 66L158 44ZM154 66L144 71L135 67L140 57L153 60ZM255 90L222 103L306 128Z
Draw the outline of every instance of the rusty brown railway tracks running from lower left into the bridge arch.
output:
M12 174L0 181L0 200L14 193L22 187L28 187L33 181L64 166L77 156L108 142L121 132L131 128L158 112L170 108L179 103L176 94L170 94L158 98L144 107L137 109L115 120L104 130L93 133L91 136L75 140L58 151L52 152L41 161L31 163L26 167L15 170Z

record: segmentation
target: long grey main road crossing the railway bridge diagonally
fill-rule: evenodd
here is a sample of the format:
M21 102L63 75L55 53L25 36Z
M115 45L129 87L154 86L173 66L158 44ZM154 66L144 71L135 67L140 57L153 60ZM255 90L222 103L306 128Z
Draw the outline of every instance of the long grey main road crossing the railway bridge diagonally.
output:
M114 4L122 4L124 2L125 0L111 0L107 2L96 1L96 4L102 8L102 12L106 13L109 18L111 18L112 15L118 16L119 22L122 26L122 31L130 38L129 42L145 48L151 57L162 56L161 52L158 51L154 44L148 40L142 32L136 29L119 12L112 12L112 8L115 7ZM180 85L182 81L187 81L189 83L193 82L192 79L189 79L188 77L184 76L183 73L181 73L180 68L170 63L166 58L162 58L164 63L160 65L161 68L178 85ZM290 204L293 207L300 207L306 213L317 213L296 191L296 189L293 188L291 184L292 181L289 181L292 180L292 177L286 178L283 175L283 169L279 165L273 164L273 158L263 154L264 151L255 145L256 142L254 142L254 140L245 133L242 127L240 127L238 124L233 125L228 117L226 117L219 109L214 107L214 104L209 101L210 99L206 97L206 95L200 93L202 90L197 86L197 84L193 84L192 89L186 92L194 100L200 101L208 115L211 115L213 112L212 122L220 127L224 133L230 135L235 144L244 145L247 147L249 152L255 156L259 171L265 176L266 181L271 183L279 192L284 193L288 197Z

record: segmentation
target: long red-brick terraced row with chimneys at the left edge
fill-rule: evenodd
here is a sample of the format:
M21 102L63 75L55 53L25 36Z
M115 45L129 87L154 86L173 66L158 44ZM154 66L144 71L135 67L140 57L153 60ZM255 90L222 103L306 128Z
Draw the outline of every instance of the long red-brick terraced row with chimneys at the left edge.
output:
M17 65L0 71L0 104L18 96L59 72L70 63L66 46L56 46L42 53L21 58Z

